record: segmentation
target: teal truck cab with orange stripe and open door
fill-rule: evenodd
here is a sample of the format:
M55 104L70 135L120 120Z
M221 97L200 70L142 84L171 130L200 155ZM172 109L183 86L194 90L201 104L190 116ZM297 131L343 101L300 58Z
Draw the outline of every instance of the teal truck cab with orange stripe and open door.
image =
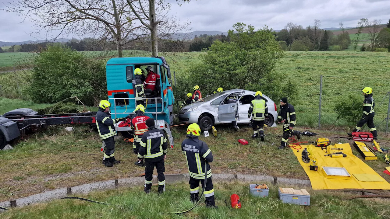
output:
M134 113L136 107L134 95L136 91L133 89L132 84L134 70L140 68L143 75L146 76L146 68L149 66L160 78L156 78L154 90L145 90L145 97L137 97L137 100L142 99L145 105L145 115L154 118L156 127L167 132L170 146L173 148L170 125L173 124L173 104L175 99L172 85L168 80L171 78L169 65L164 57L126 57L108 60L106 64L106 78L108 101L111 103L111 117L126 117ZM146 77L143 78L144 81ZM125 137L132 133L132 129L127 122L120 122L116 124L115 128Z

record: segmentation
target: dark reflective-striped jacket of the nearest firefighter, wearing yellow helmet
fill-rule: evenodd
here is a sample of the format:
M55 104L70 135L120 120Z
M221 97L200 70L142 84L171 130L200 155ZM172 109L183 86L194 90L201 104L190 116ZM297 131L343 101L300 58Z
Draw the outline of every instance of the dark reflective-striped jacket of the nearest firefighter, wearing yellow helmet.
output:
M187 160L188 173L190 177L202 180L205 178L205 172L207 172L207 178L211 177L211 168L207 164L205 170L205 163L213 162L213 153L207 144L198 139L198 136L187 135L187 138L181 143L181 150Z

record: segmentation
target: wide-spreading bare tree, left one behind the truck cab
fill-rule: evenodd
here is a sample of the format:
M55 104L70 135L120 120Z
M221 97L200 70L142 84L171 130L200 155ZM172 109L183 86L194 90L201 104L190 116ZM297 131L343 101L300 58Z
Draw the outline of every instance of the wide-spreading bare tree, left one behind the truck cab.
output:
M56 39L62 34L94 36L115 44L118 57L126 44L149 38L126 0L16 0L7 11L32 20L36 33L45 32Z

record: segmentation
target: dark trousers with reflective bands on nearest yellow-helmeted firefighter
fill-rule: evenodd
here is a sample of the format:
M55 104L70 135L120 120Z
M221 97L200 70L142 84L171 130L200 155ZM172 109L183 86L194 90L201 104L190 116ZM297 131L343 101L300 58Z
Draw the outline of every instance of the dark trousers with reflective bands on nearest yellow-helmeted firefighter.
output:
M206 198L206 206L215 206L214 187L211 177L207 178L206 188L204 187L204 179L198 180L190 177L190 200L197 202L199 200L199 182L202 183L204 197Z

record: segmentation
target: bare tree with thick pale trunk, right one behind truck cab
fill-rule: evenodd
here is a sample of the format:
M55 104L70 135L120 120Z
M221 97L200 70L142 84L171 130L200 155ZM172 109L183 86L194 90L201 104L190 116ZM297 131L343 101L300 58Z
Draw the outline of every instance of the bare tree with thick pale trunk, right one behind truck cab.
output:
M158 56L158 39L169 40L176 32L184 30L190 23L179 24L176 17L169 17L167 11L170 3L167 0L126 0L138 21L150 33L152 56ZM190 0L176 0L188 3ZM157 6L157 10L156 10ZM158 27L159 26L159 27Z

